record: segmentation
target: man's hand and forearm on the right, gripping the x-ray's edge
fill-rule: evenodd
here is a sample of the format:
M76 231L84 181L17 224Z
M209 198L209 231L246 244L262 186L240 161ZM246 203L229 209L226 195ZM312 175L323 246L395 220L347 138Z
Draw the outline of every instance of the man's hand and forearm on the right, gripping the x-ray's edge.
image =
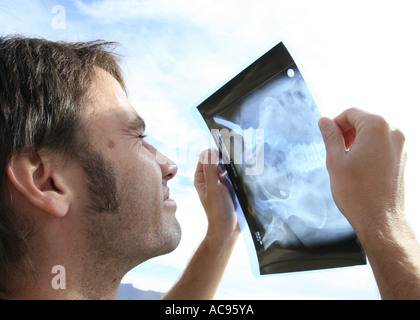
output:
M319 121L334 200L353 226L383 299L420 299L420 247L404 217L404 135L350 109Z

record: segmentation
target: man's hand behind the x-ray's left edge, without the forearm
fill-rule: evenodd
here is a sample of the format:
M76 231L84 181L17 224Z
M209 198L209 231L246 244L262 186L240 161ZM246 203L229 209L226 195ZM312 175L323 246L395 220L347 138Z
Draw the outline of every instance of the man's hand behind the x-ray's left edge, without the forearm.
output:
M238 220L229 190L219 180L217 159L217 151L203 151L194 177L194 185L209 222L207 237L237 236L240 231Z

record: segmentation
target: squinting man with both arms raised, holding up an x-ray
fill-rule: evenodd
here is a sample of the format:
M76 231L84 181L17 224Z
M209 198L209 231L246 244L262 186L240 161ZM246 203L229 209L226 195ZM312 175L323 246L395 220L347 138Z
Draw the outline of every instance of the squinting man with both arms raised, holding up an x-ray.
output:
M167 186L177 166L144 140L108 45L0 39L2 298L112 299L126 272L179 243ZM403 216L403 135L356 109L319 126L334 199L382 297L420 298L420 250ZM239 234L210 156L195 174L208 231L168 299L212 298ZM52 287L56 265L65 290Z

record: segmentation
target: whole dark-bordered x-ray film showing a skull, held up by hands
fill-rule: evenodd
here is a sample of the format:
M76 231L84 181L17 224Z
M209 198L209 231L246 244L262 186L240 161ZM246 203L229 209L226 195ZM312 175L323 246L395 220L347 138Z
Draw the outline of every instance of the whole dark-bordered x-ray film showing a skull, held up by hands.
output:
M254 274L366 264L332 198L320 112L283 43L197 109L228 172Z

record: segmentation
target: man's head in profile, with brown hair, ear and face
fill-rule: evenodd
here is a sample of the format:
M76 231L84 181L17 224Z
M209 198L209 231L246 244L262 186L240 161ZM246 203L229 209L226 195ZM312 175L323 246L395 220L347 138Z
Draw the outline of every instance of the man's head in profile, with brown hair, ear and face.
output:
M179 243L177 166L144 141L113 47L0 38L0 289L38 257L118 275Z

